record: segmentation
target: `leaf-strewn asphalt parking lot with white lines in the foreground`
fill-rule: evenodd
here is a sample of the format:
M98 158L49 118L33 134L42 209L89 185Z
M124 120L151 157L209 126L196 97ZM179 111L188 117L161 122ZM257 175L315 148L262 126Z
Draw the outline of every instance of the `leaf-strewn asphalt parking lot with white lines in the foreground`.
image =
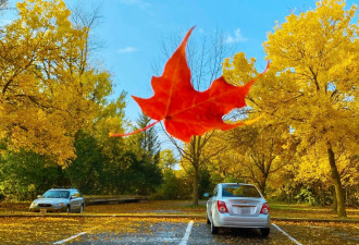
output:
M210 234L203 219L11 217L1 218L0 244L358 244L358 223L272 222Z

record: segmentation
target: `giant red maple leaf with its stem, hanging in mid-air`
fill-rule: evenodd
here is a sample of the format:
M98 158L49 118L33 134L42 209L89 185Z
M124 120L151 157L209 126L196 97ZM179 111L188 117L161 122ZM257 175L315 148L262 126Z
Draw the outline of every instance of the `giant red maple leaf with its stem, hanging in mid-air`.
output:
M231 130L245 124L244 122L228 124L223 122L222 118L231 110L246 106L245 97L255 79L244 86L234 86L227 84L221 76L213 81L207 90L195 90L190 84L190 70L186 60L186 45L193 29L194 27L189 29L166 62L162 76L152 77L154 95L148 99L133 96L143 112L157 121L129 134L110 134L110 136L127 136L147 130L163 120L169 134L188 143L193 135L202 135L211 130Z

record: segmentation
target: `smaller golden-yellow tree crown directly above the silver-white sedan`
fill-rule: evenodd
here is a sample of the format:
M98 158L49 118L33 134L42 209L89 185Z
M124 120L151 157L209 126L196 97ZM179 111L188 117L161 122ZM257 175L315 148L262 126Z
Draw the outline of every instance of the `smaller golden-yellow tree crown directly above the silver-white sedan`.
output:
M215 155L208 168L224 181L250 182L264 195L269 180L286 164L292 163L295 144L285 124L260 120L228 132L216 132L206 146L207 154L219 147L225 150Z

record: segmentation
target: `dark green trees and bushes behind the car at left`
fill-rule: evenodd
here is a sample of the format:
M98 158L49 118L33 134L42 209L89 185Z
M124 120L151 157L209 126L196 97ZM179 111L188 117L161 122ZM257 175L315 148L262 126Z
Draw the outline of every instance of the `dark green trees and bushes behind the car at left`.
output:
M79 131L75 136L77 157L65 168L49 157L24 149L11 151L2 145L0 193L13 200L29 200L61 186L74 186L84 194L152 194L162 183L162 172L160 149L153 147L158 142L151 138L152 132L147 136L132 142L129 149L113 144L112 158L96 137Z

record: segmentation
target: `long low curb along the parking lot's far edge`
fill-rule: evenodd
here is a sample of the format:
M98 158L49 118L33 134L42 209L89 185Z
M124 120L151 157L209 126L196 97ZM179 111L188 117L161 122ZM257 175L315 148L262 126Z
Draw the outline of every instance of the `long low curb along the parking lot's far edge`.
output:
M28 215L0 215L0 218L27 218L27 217L52 217L52 218L156 218L156 219L166 219L166 218L184 218L184 219L206 219L206 215L141 215L141 213L116 213L116 215L76 215L76 213L28 213ZM336 223L359 223L359 220L350 219L306 219L306 218L281 218L281 217L271 217L272 221L288 221L288 222L336 222Z

